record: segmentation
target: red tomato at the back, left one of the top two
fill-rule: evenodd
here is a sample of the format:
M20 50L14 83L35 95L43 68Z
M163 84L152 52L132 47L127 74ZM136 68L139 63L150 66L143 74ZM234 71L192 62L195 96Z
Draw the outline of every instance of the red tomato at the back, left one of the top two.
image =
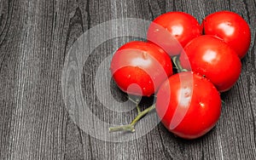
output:
M190 40L200 35L198 21L183 12L161 14L148 28L148 41L159 45L171 56L179 54Z

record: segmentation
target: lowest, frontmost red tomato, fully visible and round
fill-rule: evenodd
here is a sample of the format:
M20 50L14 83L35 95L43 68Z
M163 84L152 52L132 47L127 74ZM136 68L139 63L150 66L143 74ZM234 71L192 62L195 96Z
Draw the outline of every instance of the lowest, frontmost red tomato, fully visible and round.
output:
M180 72L160 86L156 111L173 134L195 139L211 130L221 112L218 90L199 74Z

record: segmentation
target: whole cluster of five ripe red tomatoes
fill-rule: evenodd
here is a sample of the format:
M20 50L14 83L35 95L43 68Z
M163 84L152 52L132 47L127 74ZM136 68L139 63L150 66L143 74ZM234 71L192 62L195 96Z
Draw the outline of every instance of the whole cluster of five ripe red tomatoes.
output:
M190 14L168 12L154 19L147 38L113 54L114 81L128 94L155 94L156 112L173 134L206 134L220 116L220 93L241 73L251 42L247 22L230 11L209 14L201 24Z

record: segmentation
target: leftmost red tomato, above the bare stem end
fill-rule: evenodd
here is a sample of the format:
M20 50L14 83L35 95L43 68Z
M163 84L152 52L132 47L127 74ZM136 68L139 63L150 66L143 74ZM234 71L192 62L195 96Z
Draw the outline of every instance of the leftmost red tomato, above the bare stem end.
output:
M128 94L154 94L172 75L172 61L154 43L134 41L120 47L111 61L113 80Z

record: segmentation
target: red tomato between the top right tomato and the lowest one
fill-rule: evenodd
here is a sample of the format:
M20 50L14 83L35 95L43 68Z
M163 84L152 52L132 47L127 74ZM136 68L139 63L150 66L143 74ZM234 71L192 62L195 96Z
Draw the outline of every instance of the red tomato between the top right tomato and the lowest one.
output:
M189 60L188 60L189 59ZM241 73L241 61L236 52L218 37L196 37L186 45L179 57L183 68L206 76L218 91L230 89Z

